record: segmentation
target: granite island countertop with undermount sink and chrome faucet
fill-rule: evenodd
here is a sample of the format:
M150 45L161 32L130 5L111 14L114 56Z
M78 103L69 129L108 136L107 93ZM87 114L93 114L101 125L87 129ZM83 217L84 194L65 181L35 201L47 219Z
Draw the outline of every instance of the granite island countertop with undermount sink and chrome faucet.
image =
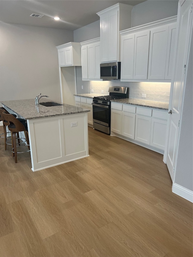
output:
M47 98L41 98L40 103L55 102L62 105L46 107L43 105L36 106L35 99L2 101L1 103L11 109L14 113L20 115L23 119L37 119L59 115L76 114L82 112L89 112L90 110L76 107L73 105L63 104Z

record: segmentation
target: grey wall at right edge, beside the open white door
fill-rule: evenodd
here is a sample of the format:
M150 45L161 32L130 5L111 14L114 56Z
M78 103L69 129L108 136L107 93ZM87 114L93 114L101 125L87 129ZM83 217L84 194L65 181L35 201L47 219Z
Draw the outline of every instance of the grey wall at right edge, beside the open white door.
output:
M193 89L192 89L192 56L191 36L190 54L185 83L185 94L182 106L179 146L174 182L193 191Z

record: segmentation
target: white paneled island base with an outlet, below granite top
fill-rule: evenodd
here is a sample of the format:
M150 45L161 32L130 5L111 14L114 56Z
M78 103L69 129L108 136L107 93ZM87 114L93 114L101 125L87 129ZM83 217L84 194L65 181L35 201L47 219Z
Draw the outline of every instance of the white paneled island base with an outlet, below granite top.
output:
M88 155L87 112L27 120L32 171Z

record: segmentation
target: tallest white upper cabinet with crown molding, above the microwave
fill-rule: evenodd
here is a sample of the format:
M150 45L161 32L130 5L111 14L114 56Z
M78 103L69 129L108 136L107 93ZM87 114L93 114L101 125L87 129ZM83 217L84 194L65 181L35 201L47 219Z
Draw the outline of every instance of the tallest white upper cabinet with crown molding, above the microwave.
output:
M100 16L100 61L121 61L120 30L131 27L133 6L118 3L103 11Z

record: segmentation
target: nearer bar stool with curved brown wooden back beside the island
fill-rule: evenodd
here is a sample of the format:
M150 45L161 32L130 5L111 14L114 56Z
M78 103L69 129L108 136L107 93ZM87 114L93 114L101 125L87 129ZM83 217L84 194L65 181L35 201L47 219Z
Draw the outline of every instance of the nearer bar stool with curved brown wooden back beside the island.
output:
M19 121L13 115L7 114L5 111L3 112L3 116L5 119L3 122L8 126L8 129L11 131L11 139L12 139L12 147L13 147L11 149L11 152L14 153L15 163L17 163L17 153L30 152L30 142L29 142L29 136L28 136L27 123L21 123L21 121ZM19 143L19 145L17 146L16 134L17 133L19 134L19 132L22 132L22 131L24 131L25 133L27 145L26 144L21 145ZM29 150L23 151L23 152L17 152L17 147L19 146L27 146Z

